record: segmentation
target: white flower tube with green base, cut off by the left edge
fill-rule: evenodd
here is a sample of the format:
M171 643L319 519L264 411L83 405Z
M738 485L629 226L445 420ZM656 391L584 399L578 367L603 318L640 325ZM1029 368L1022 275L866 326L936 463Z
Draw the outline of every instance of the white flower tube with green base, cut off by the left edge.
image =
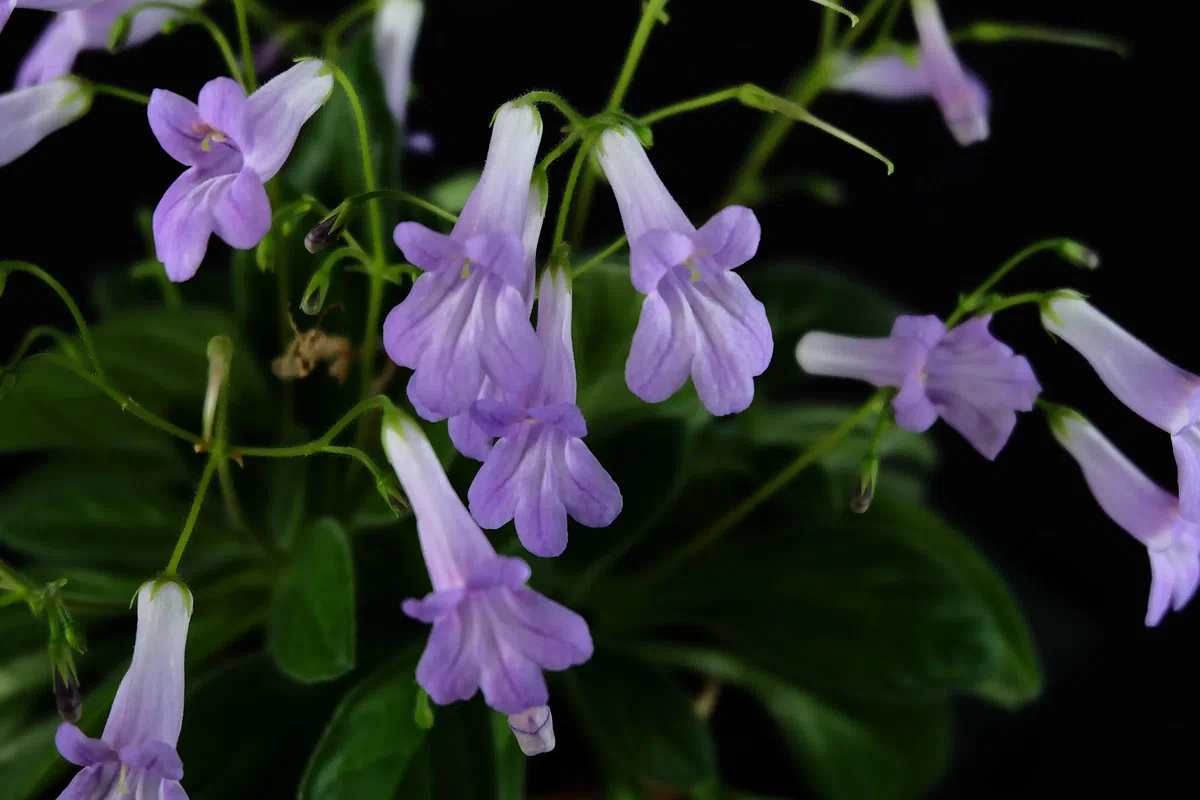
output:
M91 90L71 77L0 95L0 167L86 114L91 100Z

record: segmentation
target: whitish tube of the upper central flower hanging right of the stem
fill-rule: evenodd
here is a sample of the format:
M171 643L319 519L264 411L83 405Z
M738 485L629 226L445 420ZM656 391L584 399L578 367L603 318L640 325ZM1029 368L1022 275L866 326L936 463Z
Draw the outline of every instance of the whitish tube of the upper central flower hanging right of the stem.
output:
M601 133L596 156L617 198L629 241L636 242L648 230L696 231L631 130L608 128Z

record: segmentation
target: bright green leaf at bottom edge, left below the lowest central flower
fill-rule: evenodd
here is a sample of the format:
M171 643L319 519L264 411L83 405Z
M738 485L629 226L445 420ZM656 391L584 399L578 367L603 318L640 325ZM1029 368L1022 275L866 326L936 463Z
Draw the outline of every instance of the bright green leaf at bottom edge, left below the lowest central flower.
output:
M300 800L391 798L425 740L416 702L414 649L380 667L342 699L308 759Z

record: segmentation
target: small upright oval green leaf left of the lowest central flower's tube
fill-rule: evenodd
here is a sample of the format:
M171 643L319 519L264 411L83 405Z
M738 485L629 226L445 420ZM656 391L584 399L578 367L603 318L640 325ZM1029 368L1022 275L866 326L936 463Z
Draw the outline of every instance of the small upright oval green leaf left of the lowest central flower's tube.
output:
M346 531L319 519L305 534L271 599L269 646L276 664L305 684L354 668L354 569Z

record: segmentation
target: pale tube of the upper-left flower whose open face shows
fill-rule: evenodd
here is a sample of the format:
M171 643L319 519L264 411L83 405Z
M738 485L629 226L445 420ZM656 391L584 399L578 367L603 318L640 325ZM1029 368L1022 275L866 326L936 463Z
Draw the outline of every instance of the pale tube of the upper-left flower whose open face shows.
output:
M246 164L263 181L275 178L295 145L300 128L325 104L334 76L324 61L301 61L250 96L246 103Z

